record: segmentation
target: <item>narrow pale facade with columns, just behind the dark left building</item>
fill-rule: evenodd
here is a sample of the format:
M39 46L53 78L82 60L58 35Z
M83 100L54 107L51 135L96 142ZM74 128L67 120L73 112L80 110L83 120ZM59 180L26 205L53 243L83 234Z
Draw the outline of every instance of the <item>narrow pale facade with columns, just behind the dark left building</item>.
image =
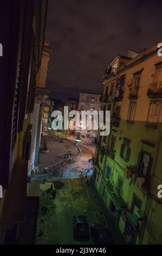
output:
M47 131L47 121L50 112L50 101L48 94L50 90L46 88L46 78L50 54L53 50L50 48L47 39L43 42L43 50L40 68L36 74L36 89L34 94L34 109L30 115L31 129L31 152L28 162L28 175L31 171L38 169L39 153L41 147L42 130Z

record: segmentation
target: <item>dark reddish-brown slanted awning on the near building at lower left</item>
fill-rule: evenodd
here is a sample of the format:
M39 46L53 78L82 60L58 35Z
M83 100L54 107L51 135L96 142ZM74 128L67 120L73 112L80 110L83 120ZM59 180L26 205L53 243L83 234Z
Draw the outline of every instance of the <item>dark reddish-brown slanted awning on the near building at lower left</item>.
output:
M27 199L28 161L18 159L12 170L10 184L4 197L0 223L25 220Z

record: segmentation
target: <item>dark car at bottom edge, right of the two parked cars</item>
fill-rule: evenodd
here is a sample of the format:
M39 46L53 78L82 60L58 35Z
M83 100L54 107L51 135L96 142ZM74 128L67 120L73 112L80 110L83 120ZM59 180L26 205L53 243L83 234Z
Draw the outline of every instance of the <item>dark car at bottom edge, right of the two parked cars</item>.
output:
M92 225L90 227L90 235L95 245L114 245L112 236L106 227Z

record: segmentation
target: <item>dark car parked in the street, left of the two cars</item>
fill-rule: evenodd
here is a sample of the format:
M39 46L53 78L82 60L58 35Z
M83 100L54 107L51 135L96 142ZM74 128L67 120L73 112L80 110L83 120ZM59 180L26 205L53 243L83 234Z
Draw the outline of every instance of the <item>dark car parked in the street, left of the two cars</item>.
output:
M73 216L73 234L74 238L85 238L89 240L89 227L86 215Z

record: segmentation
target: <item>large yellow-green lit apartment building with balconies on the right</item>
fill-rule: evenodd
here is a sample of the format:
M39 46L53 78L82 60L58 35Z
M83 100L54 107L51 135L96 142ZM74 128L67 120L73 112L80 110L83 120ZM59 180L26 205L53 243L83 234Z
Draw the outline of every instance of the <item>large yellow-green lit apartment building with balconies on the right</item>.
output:
M111 132L100 136L94 182L130 244L162 243L162 57L157 45L117 56L103 75L103 110ZM129 52L130 53L130 52Z

